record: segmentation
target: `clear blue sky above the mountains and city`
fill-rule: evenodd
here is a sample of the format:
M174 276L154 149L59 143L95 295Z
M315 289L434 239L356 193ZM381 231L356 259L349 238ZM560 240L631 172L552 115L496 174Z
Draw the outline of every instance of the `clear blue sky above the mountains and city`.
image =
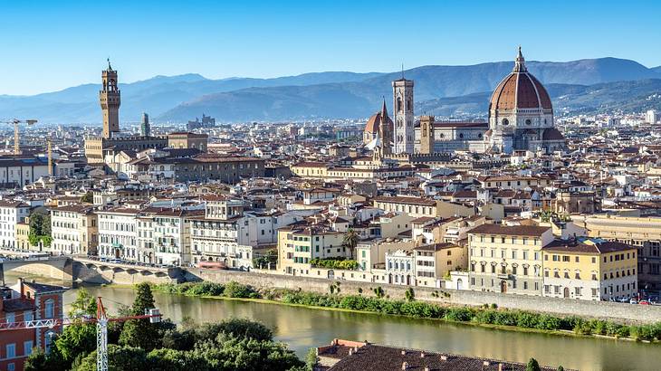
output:
M658 1L0 0L0 94L200 73L276 77L613 56L661 65Z

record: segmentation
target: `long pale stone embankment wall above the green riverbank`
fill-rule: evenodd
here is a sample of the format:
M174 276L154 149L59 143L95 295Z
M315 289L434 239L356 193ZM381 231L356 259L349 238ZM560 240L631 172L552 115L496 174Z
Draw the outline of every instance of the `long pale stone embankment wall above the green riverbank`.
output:
M340 294L374 296L373 289L381 287L390 299L403 300L408 286L382 285L369 282L325 280L307 277L294 277L280 274L265 274L244 271L184 270L185 281L213 281L224 283L238 281L258 289L306 290L329 293L333 282L340 282ZM566 300L536 296L502 294L470 290L413 288L417 300L438 304L480 306L496 304L498 308L522 309L547 312L562 316L581 316L599 319L624 319L628 322L652 323L661 321L661 306L633 305L608 301Z

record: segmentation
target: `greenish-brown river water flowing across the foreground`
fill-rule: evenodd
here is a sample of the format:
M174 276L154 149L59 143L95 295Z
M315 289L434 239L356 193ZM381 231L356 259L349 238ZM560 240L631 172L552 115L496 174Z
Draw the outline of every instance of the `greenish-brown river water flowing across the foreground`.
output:
M14 281L14 277L7 274L7 281ZM110 313L116 312L121 304L130 305L133 301L131 289L92 286L88 290L103 298ZM65 304L71 303L75 295L75 289L67 291ZM345 338L519 362L535 357L542 365L581 370L661 370L660 344L522 333L438 320L200 299L158 292L154 293L154 299L164 317L175 322L185 317L197 322L232 317L258 320L273 328L275 338L287 343L299 357L304 357L310 347L328 344L333 338Z

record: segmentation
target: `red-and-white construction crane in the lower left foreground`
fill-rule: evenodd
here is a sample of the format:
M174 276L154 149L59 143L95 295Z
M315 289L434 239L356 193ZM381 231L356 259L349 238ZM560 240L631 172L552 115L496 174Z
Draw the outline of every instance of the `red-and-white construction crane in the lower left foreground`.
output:
M82 316L62 319L33 319L21 322L0 323L0 331L17 328L54 328L56 326L96 323L96 369L108 371L108 322L124 322L129 319L149 319L150 323L160 322L160 312L156 308L145 309L140 316L108 317L101 297L96 301L96 318Z

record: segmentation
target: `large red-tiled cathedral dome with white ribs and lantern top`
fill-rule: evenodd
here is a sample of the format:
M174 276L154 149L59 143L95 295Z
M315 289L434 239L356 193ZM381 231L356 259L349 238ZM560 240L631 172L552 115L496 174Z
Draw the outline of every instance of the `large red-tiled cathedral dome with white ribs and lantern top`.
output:
M492 109L553 109L549 93L525 67L521 47L512 73L493 90L489 101Z

